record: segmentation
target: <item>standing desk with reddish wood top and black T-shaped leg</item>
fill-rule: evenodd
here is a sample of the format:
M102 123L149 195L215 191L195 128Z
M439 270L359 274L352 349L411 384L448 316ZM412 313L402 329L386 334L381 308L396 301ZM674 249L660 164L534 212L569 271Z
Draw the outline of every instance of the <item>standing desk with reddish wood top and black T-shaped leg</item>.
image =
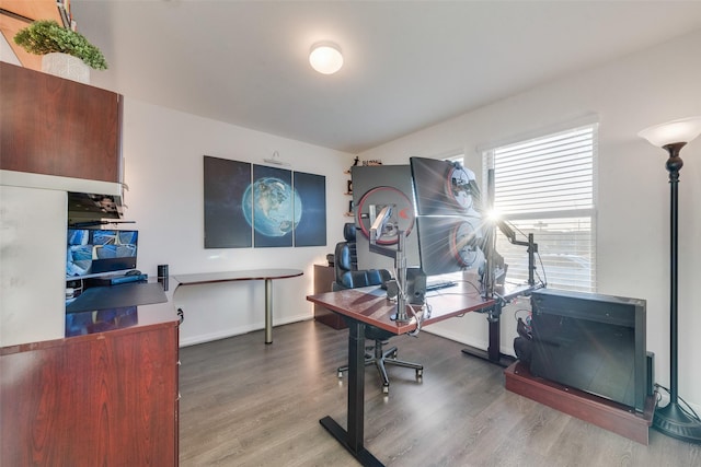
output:
M399 324L390 319L397 304L387 300L387 291L379 287L346 289L308 295L307 300L343 315L348 322L348 415L347 430L326 416L319 420L353 456L364 466L383 466L363 446L365 417L365 326L371 325L397 335L416 329L416 320ZM422 327L469 312L489 308L494 300L475 295L472 288L459 284L449 291L426 297L430 316ZM411 315L410 315L411 316Z

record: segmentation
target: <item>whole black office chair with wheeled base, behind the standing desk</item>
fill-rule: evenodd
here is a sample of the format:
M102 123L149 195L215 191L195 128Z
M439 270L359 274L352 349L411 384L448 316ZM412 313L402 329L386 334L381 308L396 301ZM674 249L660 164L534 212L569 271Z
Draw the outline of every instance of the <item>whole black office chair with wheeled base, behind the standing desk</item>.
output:
M390 272L386 269L358 270L355 244L355 224L346 223L343 226L343 236L346 241L338 243L334 252L335 281L332 287L334 291L368 285L381 285L383 282L391 279ZM384 329L365 325L365 338L375 342L374 346L366 348L365 365L374 364L377 367L380 373L380 377L382 378L382 393L384 394L389 394L390 392L390 380L387 376L387 369L384 365L414 369L416 371L417 378L422 377L424 374L423 365L398 360L397 347L391 347L390 349L384 350L384 343L387 343L390 337L393 336L395 335ZM343 372L347 370L347 365L341 366L338 369L338 377L343 377Z

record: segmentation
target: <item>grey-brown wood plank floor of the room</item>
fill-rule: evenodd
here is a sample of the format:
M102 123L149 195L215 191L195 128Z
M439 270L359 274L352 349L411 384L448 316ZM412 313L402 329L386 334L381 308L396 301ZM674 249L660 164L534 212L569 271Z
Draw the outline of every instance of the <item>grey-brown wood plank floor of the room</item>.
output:
M345 427L347 330L313 320L181 349L181 466L356 466L319 424ZM421 332L392 339L390 395L366 374L365 446L387 466L701 466L701 445L644 446L504 389L503 369Z

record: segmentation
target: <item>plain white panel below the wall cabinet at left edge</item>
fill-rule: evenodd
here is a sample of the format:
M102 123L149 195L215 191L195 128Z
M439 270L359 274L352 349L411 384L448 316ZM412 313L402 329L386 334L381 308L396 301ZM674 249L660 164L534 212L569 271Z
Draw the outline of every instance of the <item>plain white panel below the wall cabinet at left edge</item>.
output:
M0 174L0 347L64 337L66 191Z

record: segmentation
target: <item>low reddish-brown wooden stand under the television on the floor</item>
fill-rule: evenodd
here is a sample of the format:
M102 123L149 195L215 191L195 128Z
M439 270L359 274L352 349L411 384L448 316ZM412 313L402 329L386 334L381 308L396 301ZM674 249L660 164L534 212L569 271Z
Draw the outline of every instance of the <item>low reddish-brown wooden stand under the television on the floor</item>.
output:
M628 406L533 376L520 361L504 370L504 375L506 389L513 393L637 443L647 445L650 442L648 432L655 412L654 396L647 396L645 410L636 413Z

